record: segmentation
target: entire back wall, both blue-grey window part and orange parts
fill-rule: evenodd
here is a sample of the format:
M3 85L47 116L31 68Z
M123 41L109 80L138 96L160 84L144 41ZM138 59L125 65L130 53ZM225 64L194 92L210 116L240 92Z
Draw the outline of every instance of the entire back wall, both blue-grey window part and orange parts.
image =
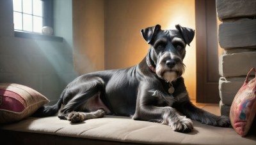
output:
M15 37L12 1L0 1L0 82L30 86L52 103L76 77L73 61L78 74L133 66L148 50L140 29L195 28L194 0L57 0L54 5L54 34L63 42ZM195 99L195 40L184 63L186 86Z

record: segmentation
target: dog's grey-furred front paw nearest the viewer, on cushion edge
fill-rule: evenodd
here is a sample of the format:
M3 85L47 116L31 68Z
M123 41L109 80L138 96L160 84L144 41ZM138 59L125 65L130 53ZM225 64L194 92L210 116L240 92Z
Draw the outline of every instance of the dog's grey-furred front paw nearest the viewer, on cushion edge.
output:
M191 132L193 130L193 122L186 116L178 116L170 125L176 132Z

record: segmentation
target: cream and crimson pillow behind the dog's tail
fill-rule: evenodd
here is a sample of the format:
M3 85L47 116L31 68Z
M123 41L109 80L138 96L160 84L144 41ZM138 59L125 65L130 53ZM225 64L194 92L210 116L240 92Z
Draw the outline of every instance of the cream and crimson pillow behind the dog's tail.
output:
M48 102L44 95L28 86L0 83L0 123L22 120Z

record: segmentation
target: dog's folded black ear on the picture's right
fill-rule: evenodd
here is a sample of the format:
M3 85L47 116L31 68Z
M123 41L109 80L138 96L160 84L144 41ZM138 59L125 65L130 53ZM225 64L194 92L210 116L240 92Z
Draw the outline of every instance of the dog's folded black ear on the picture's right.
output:
M175 27L177 30L179 30L180 33L182 33L184 40L186 41L188 46L190 46L189 44L191 43L195 36L195 30L186 27L181 27L180 25L175 25Z

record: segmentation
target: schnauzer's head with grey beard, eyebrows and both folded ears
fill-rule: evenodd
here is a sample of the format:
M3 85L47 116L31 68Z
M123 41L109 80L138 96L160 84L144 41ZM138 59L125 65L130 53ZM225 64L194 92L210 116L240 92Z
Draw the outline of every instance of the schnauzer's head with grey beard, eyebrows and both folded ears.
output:
M195 36L193 29L180 25L175 27L175 30L161 30L161 25L156 25L141 30L150 45L148 55L152 65L156 66L156 74L167 82L175 81L183 74L185 48Z

